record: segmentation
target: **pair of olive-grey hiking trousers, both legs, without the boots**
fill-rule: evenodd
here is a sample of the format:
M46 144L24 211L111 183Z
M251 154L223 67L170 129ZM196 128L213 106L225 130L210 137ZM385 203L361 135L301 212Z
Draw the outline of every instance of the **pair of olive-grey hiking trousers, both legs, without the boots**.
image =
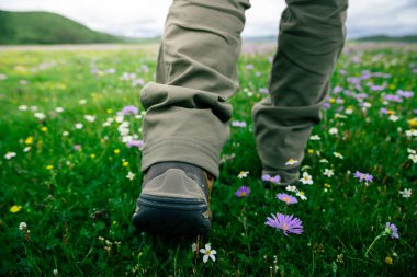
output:
M329 78L345 44L348 0L286 0L270 95L252 108L263 174L300 176L306 141L320 122ZM236 62L248 0L173 0L159 48L156 82L140 101L142 170L158 162L198 165L218 177L238 89ZM289 159L298 161L285 164Z

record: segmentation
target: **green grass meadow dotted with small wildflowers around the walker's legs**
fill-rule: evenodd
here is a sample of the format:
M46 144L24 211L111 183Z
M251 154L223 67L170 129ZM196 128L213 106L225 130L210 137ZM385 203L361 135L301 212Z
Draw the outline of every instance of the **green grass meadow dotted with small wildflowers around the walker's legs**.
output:
M331 78L333 91L341 92L330 93L313 131L320 140L308 141L303 162L314 184L301 185L307 200L291 206L275 198L282 188L266 189L259 181L251 132L250 108L266 96L260 89L268 83L272 51L244 51L241 89L232 103L233 119L247 127L232 128L222 153L207 240L217 254L207 263L191 251L193 241L135 233L129 223L140 191L140 150L121 140L116 113L139 107L124 120L140 138L139 93L153 80L156 50L0 51L0 275L415 276L417 165L410 150L417 140L409 130L416 128L417 101L383 99L417 92L417 48L346 47ZM123 72L136 77L122 80ZM368 97L359 101L349 78L361 76ZM382 107L399 118L391 120ZM10 152L15 157L7 159ZM325 169L335 175L325 176ZM249 175L238 178L241 171ZM359 182L356 171L373 175L373 182ZM234 193L243 185L251 194L238 198ZM412 197L402 197L405 188ZM295 215L304 233L285 236L267 227L272 212ZM19 229L21 222L26 230ZM385 222L396 224L399 239L383 236L365 256ZM198 242L199 249L206 243Z

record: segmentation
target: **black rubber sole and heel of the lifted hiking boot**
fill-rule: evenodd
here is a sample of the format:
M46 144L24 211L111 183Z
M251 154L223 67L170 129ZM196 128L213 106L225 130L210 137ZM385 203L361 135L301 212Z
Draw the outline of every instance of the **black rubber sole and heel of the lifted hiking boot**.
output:
M143 194L132 223L139 231L169 236L207 236L208 207L202 199Z

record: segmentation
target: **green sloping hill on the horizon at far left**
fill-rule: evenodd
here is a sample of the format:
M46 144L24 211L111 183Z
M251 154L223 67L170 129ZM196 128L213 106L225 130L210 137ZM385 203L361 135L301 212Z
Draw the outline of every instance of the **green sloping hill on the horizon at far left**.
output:
M0 44L91 44L124 39L50 12L0 11Z

